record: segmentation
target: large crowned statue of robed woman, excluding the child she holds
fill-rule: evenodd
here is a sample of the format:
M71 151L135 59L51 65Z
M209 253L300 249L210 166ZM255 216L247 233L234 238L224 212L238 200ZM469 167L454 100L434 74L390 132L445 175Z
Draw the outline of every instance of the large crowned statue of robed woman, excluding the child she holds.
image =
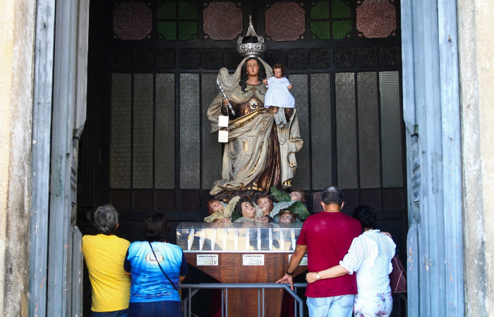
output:
M219 130L219 116L229 116L228 139L224 144L222 179L212 186L210 194L229 201L241 196L269 194L270 187L287 189L296 172L295 154L303 141L296 108L279 108L287 121L275 124L275 107L265 108L267 88L263 80L272 77L272 68L259 56L265 51L264 38L258 36L252 21L246 37L257 43L243 44L239 36L237 50L245 56L233 75L227 68L219 70L220 92L207 110L212 130ZM230 107L231 106L231 107Z

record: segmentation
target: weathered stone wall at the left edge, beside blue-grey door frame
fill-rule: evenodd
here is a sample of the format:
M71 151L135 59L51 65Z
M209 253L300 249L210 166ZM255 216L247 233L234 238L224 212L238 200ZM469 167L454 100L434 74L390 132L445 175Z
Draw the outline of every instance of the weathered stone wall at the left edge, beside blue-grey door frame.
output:
M0 1L0 316L28 316L35 6Z

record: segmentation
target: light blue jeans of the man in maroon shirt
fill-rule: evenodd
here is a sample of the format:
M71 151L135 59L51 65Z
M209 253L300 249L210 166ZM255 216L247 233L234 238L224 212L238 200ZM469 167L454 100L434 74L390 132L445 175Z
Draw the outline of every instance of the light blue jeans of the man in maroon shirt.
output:
M355 295L307 297L310 317L351 317Z

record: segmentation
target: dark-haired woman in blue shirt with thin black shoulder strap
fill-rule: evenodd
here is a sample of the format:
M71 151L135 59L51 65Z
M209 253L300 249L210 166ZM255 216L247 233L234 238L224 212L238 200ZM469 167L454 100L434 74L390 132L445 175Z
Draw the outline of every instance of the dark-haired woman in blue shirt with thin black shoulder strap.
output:
M145 241L133 242L123 267L131 273L128 317L181 316L179 281L187 274L187 261L180 247L167 243L167 216L155 213L143 223Z

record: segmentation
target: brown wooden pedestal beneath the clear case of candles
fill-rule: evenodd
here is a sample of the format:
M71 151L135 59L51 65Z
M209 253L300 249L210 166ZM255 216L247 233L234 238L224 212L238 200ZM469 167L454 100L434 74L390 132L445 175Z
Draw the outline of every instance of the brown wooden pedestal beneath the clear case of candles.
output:
M243 266L242 253L218 254L218 266L198 266L197 254L186 252L187 263L200 271L224 283L274 283L285 273L288 256L291 253L265 253L264 266ZM205 254L205 253L201 253ZM245 254L249 254L246 252ZM299 266L294 275L306 271L306 266ZM261 316L263 316L263 294L260 293ZM265 290L265 316L279 316L282 308L283 292ZM228 290L228 316L258 316L258 290Z

